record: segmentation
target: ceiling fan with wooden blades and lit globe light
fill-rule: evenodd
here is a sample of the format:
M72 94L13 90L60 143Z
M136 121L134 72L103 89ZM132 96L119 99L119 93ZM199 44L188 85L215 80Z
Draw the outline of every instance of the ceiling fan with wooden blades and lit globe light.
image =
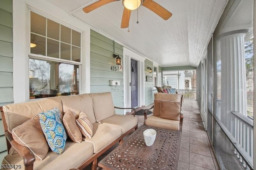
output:
M83 11L85 13L89 13L92 10L115 1L120 0L99 0L83 8ZM122 2L124 6L124 12L122 16L121 28L127 28L129 26L131 11L137 9L140 6L145 6L164 20L168 20L172 16L172 13L152 0L122 0Z

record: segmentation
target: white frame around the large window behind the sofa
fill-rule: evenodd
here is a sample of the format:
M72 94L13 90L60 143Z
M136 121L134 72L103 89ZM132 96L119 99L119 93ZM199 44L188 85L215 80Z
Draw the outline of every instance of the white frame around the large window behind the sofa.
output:
M80 62L78 61L72 61L72 60L66 60L66 59L61 59L61 58L56 58L56 57L49 57L49 56L46 56L46 55L39 55L39 54L34 54L34 53L31 53L30 52L30 36L31 36L31 12L34 12L42 17L45 17L49 20L52 20L62 26L66 26L67 28L70 28L76 32L79 32L80 33ZM38 10L35 10L33 8L30 8L30 6L28 6L28 11L27 11L27 29L26 29L26 33L27 33L27 39L26 39L26 42L27 42L27 50L28 50L28 55L27 55L27 59L26 59L26 62L27 62L27 72L26 72L26 75L27 75L27 83L26 83L26 101L33 101L33 100L38 100L38 99L43 99L43 98L38 98L38 99L30 99L30 95L29 95L29 59L41 59L41 60L44 60L44 61L55 61L55 62L60 62L60 63L67 63L67 64L72 64L72 65L79 65L79 80L80 80L80 83L79 83L79 94L82 93L82 91L84 91L84 79L82 78L83 77L83 73L82 73L82 70L84 70L85 68L85 65L83 64L83 51L84 51L84 45L83 45L83 39L84 39L84 35L83 35L83 31L82 30L79 30L78 28L75 28L74 26L71 26L69 24L67 24L66 22L63 22L61 20L58 20L57 18L54 18L52 16L49 16L48 14L44 14ZM46 28L47 30L47 28ZM47 37L46 37L47 38ZM59 42L61 42L61 40L59 40ZM71 46L72 47L72 46ZM60 51L59 51L60 52ZM72 56L71 56L71 59L72 59Z

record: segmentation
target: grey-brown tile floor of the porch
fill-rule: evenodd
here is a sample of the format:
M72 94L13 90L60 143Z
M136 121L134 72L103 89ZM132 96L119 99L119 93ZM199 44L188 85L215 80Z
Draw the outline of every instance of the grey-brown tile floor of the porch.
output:
M182 103L182 112L184 119L178 170L220 170L212 144L202 125L196 101L185 99ZM140 127L143 125L144 116L136 115L136 117L138 118L138 127ZM116 146L118 144L100 156L98 162ZM89 169L90 166L85 168L85 170ZM97 170L102 170L102 168L98 167Z

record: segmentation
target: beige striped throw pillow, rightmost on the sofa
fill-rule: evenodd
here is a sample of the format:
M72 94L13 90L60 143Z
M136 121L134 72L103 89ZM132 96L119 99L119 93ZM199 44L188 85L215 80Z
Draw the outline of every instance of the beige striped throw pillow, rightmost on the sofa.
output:
M79 118L76 119L76 125L83 136L92 138L92 122L84 112L80 112Z

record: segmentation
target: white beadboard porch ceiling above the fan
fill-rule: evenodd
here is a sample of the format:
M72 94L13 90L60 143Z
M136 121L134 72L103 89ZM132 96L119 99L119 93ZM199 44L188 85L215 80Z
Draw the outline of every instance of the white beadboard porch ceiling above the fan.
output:
M122 0L88 14L82 8L97 0L48 0L68 14L106 34L162 67L197 67L227 0L154 0L170 12L163 20L144 6L132 11L130 32L121 29Z

